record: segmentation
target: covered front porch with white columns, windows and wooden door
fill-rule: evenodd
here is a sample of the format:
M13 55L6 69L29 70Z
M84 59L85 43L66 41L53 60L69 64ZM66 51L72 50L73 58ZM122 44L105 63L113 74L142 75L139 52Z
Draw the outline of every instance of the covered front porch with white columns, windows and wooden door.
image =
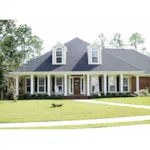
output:
M20 78L22 80L20 81ZM136 85L132 84L136 78ZM135 73L26 73L15 75L16 95L23 94L86 95L104 93L139 93L139 74ZM136 90L133 91L133 86Z

